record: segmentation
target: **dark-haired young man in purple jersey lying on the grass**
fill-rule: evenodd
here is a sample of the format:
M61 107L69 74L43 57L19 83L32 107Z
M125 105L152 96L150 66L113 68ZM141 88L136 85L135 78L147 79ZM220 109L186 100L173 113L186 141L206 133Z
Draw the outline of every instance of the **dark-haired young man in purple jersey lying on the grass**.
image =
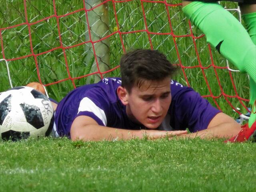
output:
M230 138L240 125L192 88L174 80L176 67L157 50L135 50L120 61L120 78L72 90L56 108L58 136L72 140ZM190 130L190 134L186 131Z

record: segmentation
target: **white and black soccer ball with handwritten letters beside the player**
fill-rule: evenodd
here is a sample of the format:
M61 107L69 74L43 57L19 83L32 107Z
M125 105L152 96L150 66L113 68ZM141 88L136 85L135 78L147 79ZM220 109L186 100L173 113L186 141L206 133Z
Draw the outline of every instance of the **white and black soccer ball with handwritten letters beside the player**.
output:
M26 86L0 94L0 138L20 140L48 136L54 115L50 100L41 92Z

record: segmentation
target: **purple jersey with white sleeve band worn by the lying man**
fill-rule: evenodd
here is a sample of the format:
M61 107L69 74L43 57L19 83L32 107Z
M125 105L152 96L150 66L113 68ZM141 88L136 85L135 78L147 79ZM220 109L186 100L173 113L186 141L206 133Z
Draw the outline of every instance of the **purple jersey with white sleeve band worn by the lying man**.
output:
M136 124L128 118L126 106L116 94L118 86L121 86L120 78L104 78L96 84L72 90L56 109L55 123L58 134L70 137L71 124L81 115L93 118L102 126L130 130L144 128L143 125ZM203 130L220 112L192 88L174 80L171 80L170 86L172 102L158 130Z

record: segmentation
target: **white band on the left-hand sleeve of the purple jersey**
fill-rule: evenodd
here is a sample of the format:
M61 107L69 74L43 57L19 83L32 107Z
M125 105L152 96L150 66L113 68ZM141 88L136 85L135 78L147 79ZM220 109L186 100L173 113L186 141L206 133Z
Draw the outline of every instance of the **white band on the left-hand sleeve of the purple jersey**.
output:
M100 120L102 120L103 124L106 126L107 118L104 111L96 106L96 104L94 104L94 102L92 102L92 100L90 100L88 97L85 97L80 101L77 114L82 111L89 111L94 113L94 115L100 118Z

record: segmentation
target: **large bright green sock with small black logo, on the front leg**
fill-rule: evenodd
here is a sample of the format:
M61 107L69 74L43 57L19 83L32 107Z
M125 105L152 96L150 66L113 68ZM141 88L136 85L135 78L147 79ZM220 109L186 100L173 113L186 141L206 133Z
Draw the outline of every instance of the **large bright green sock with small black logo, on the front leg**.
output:
M249 74L250 104L253 105L256 98L256 45L248 32L230 12L217 3L195 1L186 5L183 11L195 26L204 32L208 43L241 72ZM250 28L252 27L248 29ZM253 28L251 30L253 31ZM249 127L255 120L256 114L252 111Z

